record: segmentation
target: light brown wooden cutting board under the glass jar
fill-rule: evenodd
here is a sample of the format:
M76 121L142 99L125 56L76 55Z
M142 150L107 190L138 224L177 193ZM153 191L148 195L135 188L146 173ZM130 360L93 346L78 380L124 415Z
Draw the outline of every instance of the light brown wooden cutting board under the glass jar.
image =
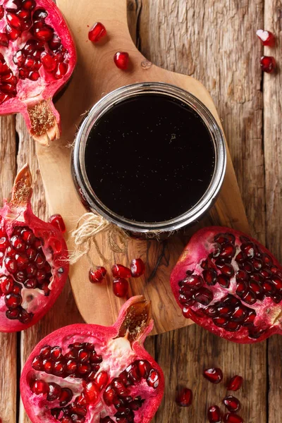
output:
M61 140L53 142L50 147L37 145L37 156L49 208L52 213L63 216L68 229L68 247L72 251L73 240L69 234L86 210L78 199L71 178L70 145L83 115L95 102L108 92L133 82L168 82L194 94L209 108L219 125L221 122L212 98L200 82L154 66L136 49L128 31L126 0L58 0L57 4L73 32L78 65L66 92L56 103L62 121ZM97 21L104 23L108 32L107 39L99 45L92 44L87 37L89 28ZM116 51L128 51L132 70L116 68L113 61ZM178 329L191 323L182 316L173 298L169 276L190 235L201 226L211 224L249 232L229 152L226 177L219 198L197 225L163 242L132 239L128 243L128 251L123 255L111 252L105 233L97 237L103 255L112 264L118 262L126 266L136 257L142 257L146 263L145 276L130 281L129 295L142 293L152 300L154 333ZM96 264L102 264L94 248L91 258ZM116 298L112 292L110 266L107 266L106 283L99 285L93 285L88 280L89 269L90 263L86 257L71 266L69 276L75 301L87 323L110 325L115 321L124 300Z

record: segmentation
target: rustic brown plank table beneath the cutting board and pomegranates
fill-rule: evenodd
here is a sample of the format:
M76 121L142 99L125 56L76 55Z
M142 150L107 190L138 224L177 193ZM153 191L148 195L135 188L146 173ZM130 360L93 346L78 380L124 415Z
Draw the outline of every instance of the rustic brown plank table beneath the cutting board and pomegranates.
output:
M252 234L282 259L282 76L262 75L263 48L255 32L273 31L276 48L264 54L282 63L281 0L130 0L128 22L147 59L171 71L195 76L211 92L222 118ZM20 116L1 118L0 197L11 191L16 170L26 161L34 176L33 206L42 219L48 207L34 142ZM24 333L1 334L0 416L4 423L27 423L20 405L20 368L34 345L60 326L82 321L69 285L39 324ZM147 349L166 376L166 392L154 422L207 422L207 408L226 390L202 377L204 367L221 367L227 378L244 377L238 398L247 423L282 422L282 338L235 345L192 325L149 338ZM175 401L176 387L192 388L188 409Z

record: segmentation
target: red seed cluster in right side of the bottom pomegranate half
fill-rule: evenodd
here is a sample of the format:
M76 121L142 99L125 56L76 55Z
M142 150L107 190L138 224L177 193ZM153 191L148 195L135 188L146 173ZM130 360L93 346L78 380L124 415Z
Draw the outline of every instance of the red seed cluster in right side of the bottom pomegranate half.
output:
M142 379L147 385L157 389L159 386L159 373L153 369L147 360L136 360L130 364L117 378L106 387L103 398L106 405L116 407L116 422L134 422L134 411L142 407L144 400L140 396L133 398L129 395L130 386L140 383ZM109 416L100 419L100 423L111 422Z

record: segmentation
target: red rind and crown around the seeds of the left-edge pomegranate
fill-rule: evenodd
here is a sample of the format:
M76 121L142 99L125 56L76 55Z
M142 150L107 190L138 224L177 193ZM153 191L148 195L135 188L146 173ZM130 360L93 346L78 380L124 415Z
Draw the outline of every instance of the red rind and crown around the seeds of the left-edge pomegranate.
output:
M11 234L13 234L16 228L21 227L30 229L33 233L31 236L35 236L37 240L42 240L41 247L39 247L42 251L42 257L44 257L42 263L45 263L48 267L51 266L51 276L48 279L48 286L42 285L34 289L32 287L29 289L25 286L27 281L19 281L19 279L16 279L16 274L11 274L8 271L7 266L4 264L5 260L0 264L1 280L5 276L12 279L14 288L20 291L22 297L21 307L25 310L23 311L23 315L25 317L27 317L27 313L30 314L30 317L32 315L32 318L27 319L26 322L19 321L19 319L8 319L6 316L5 295L2 292L0 296L0 332L22 331L37 323L51 306L54 305L68 277L68 250L66 242L57 228L51 225L51 223L42 221L33 214L30 204L30 197L32 195L31 183L30 169L26 164L16 177L11 201L7 202L4 200L4 207L0 209L0 228L1 231L6 233L11 242L13 241ZM16 245L16 243L13 245ZM8 246L6 250L2 251L4 252L4 257L8 254L9 248L11 246ZM29 264L32 271L34 268L36 270L34 263ZM39 262L39 267L40 264ZM29 283L32 283L34 280L35 278L28 279ZM10 312L14 311L13 309L10 310Z

